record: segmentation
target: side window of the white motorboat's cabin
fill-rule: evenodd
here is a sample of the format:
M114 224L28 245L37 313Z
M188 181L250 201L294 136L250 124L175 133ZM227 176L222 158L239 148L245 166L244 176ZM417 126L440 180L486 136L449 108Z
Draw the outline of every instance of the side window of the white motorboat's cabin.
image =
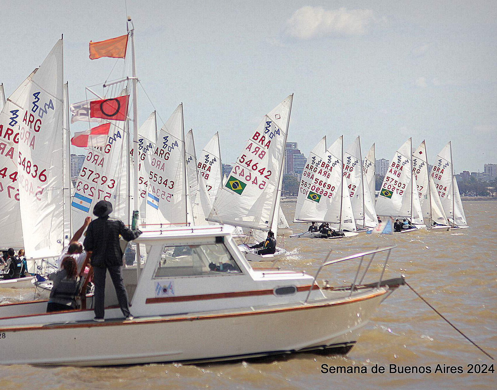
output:
M223 243L164 246L155 278L241 274Z

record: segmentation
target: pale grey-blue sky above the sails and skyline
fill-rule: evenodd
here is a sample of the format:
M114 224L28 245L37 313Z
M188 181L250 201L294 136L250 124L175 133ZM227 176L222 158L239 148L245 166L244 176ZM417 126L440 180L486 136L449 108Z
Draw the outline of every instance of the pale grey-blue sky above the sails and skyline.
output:
M126 10L127 8L127 10ZM88 42L135 26L138 121L183 103L197 154L219 131L224 163L294 94L288 141L309 151L357 135L391 159L424 139L429 162L451 140L454 169L497 163L497 1L2 0L0 83L9 95L64 34L70 102L122 75ZM101 88L100 88L101 90ZM161 121L162 120L162 121ZM72 125L82 131L87 123ZM75 150L82 154L82 149Z

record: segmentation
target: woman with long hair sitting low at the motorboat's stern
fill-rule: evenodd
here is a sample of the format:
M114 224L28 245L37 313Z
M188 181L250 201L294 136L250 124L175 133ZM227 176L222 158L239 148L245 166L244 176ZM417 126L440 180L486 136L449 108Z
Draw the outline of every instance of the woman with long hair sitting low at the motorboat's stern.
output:
M76 295L80 287L76 260L67 256L62 260L62 270L47 275L53 281L52 292L48 299L47 312L71 310L76 308Z

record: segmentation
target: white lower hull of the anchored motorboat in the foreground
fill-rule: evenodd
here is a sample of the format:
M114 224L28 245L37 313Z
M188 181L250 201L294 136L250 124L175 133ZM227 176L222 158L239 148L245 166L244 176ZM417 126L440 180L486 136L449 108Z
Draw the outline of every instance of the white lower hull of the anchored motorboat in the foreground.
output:
M132 321L68 321L6 327L0 323L4 351L0 363L107 366L217 361L345 348L355 343L360 329L390 290L372 289L351 298L321 299L308 304ZM27 339L29 343L23 342ZM46 351L46 340L56 340L51 343L50 353ZM110 344L109 340L116 342Z

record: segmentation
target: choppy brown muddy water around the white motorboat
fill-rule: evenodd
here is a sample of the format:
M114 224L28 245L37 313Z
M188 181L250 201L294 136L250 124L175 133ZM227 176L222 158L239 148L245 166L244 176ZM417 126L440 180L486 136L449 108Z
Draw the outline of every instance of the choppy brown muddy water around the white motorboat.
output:
M384 237L360 234L341 241L284 238L280 244L295 255L280 265L312 274L324 255L298 253L330 246L397 245L384 278L404 274L408 283L447 319L497 357L497 201L463 204L469 229L423 230ZM283 202L282 207L287 219L292 220L295 202ZM307 229L305 224L291 225L295 232ZM343 254L349 252L337 250L336 257ZM374 272L379 276L380 262L373 263L372 277ZM354 269L336 264L318 281L350 284ZM0 291L0 303L29 299L32 292ZM291 324L282 324L274 332L285 332L286 326ZM225 342L237 337L236 329L225 336ZM114 339L108 340L109 348L119 343L120 337L116 333ZM29 343L29 339L24 342ZM47 354L56 342L47 340ZM469 364L492 363L404 286L379 306L347 356L301 353L232 363L111 368L0 366L0 389L496 389L497 374L467 373ZM325 374L321 372L323 364L365 367L367 373ZM437 364L442 370L444 365L460 366L463 373L434 373ZM376 365L385 367L385 373L371 373ZM403 370L414 366L418 371L420 367L424 371L430 367L431 373L390 373L390 365Z

